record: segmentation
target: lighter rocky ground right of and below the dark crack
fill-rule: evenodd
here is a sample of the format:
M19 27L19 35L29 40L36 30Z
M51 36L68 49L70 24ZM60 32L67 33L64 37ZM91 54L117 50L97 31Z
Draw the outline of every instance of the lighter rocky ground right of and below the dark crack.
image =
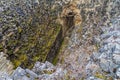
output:
M76 2L83 22L65 38L56 66L36 62L31 70L18 67L11 75L2 73L0 80L120 79L120 1Z

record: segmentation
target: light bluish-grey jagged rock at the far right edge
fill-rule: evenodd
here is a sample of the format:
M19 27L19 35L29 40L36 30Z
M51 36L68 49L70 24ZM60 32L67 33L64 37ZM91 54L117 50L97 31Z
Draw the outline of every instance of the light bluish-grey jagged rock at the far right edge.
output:
M102 47L99 50L99 56L97 59L100 69L105 72L108 72L108 76L112 76L113 79L116 79L116 75L119 75L119 66L120 66L120 56L119 56L119 27L120 20L119 16L114 19L116 23L112 23L111 27L108 27L106 33L101 35ZM94 61L93 61L94 62ZM98 68L99 69L99 68ZM94 69L91 71L94 71ZM92 72L93 73L93 72ZM116 73L116 74L115 74ZM93 74L92 74L93 75Z

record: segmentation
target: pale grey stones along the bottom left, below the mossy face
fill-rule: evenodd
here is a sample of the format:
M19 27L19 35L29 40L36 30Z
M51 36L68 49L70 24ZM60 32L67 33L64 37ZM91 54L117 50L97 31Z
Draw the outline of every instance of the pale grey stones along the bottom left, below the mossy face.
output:
M49 62L36 62L32 70L18 67L10 76L0 73L0 80L64 80L67 71Z

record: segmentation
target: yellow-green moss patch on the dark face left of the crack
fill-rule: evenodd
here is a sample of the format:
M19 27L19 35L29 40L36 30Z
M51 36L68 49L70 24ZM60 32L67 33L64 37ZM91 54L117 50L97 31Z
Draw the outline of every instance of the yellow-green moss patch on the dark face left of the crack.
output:
M39 25L41 26L41 25ZM8 55L14 55L15 58L12 58L12 62L15 67L22 65L23 67L31 68L36 61L45 61L47 54L50 51L50 48L53 42L56 39L57 34L59 33L60 27L56 27L56 31L53 29L47 30L47 34L42 35L40 30L41 27L29 27L29 30L34 32L30 33L27 37L27 41L15 40L13 35L8 42ZM56 25L57 26L57 25ZM33 29L34 28L34 29ZM24 31L21 28L18 30L18 33ZM28 32L29 33L29 32ZM54 33L54 34L53 34ZM24 39L23 39L24 40ZM14 46L20 46L19 50L15 52L16 48ZM14 53L15 52L15 53ZM28 59L29 57L29 59ZM31 60L31 64L29 64Z

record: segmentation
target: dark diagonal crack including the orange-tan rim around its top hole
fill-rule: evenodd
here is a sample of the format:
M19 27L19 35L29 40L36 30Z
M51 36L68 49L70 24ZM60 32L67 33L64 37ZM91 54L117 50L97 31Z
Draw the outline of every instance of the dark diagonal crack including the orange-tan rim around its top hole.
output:
M77 5L74 3L66 4L62 7L62 11L58 19L58 22L62 25L62 28L47 55L47 60L50 62L54 62L54 59L58 56L65 37L71 36L71 33L76 26L80 27L82 21L80 9L78 9Z

